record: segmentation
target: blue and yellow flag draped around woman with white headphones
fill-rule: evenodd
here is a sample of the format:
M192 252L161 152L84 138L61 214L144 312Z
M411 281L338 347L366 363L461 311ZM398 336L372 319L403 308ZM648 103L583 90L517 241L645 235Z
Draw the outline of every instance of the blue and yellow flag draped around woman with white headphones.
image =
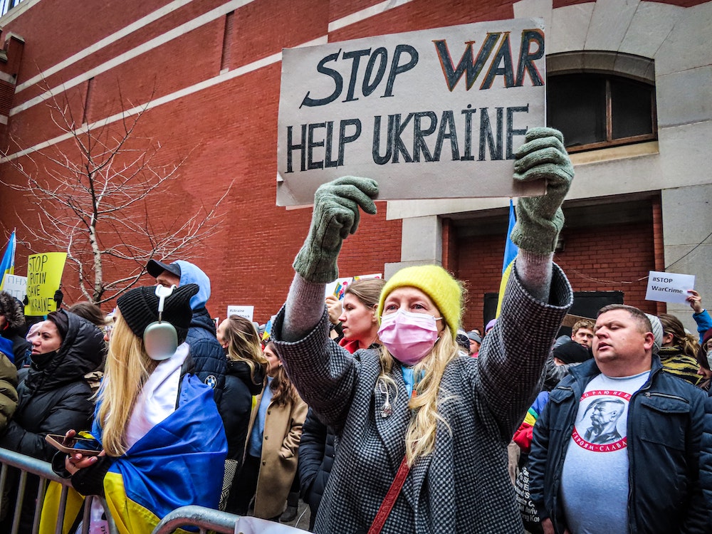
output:
M103 486L121 534L150 533L159 520L180 506L218 508L227 441L212 396L212 390L197 378L184 377L175 412L112 463ZM97 422L92 434L101 439ZM55 531L60 491L57 483L50 484L41 534ZM82 497L73 488L69 493L67 516L73 520ZM66 521L63 533L70 534L71 522Z

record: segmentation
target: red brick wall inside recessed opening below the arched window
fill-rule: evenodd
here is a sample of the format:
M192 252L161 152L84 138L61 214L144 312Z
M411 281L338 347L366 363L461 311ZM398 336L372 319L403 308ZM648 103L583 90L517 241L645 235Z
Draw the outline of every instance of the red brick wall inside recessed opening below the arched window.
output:
M656 313L656 303L645 300L648 271L654 270L653 229L650 224L564 229L565 251L554 261L563 269L574 291L623 291L626 304ZM483 326L485 293L497 293L504 255L503 236L468 237L457 241L457 276L468 285L464 325Z

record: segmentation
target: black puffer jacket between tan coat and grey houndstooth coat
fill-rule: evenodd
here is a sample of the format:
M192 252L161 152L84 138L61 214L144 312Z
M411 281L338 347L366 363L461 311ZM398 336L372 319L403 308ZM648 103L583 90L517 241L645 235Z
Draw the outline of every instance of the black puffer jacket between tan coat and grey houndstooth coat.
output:
M313 409L307 412L299 442L299 485L302 498L309 505L309 530L313 530L316 513L334 463L334 433L319 421Z

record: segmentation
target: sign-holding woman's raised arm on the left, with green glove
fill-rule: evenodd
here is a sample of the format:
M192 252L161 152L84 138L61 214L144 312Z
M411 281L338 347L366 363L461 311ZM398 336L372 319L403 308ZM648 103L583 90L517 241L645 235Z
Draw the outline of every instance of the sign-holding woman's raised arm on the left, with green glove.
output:
M324 184L314 197L307 239L294 260L296 274L272 328L278 354L301 397L325 422L339 426L355 386L355 363L329 339L325 284L337 278L337 256L353 234L360 211L375 214L372 179L343 177Z

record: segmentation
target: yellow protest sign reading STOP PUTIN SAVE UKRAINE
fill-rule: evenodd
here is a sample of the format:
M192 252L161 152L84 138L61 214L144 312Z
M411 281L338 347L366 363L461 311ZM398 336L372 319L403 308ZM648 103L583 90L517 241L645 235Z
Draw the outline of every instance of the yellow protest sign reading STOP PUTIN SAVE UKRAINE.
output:
M62 282L66 252L44 252L27 258L25 315L47 315L57 309L54 293Z

